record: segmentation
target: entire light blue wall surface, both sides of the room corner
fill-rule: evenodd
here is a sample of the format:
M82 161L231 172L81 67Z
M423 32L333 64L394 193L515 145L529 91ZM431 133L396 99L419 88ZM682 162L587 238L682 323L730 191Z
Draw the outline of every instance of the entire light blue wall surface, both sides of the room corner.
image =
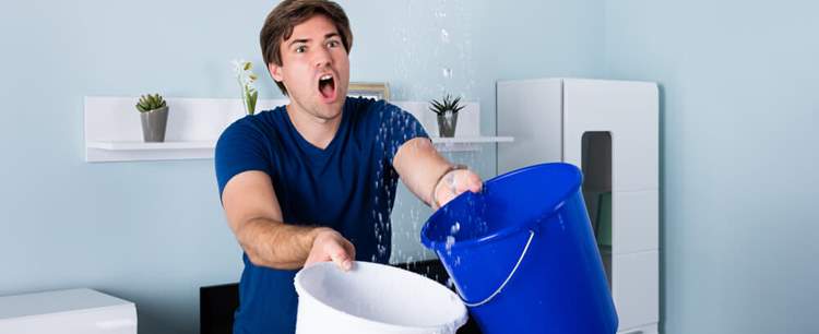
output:
M342 4L356 34L353 80L389 82L396 99L464 94L482 103L485 133L496 80L660 82L666 333L819 329L819 5ZM241 269L212 160L86 164L82 97L234 97L228 60L261 64L258 29L273 5L0 3L0 295L90 286L135 301L142 333L197 332L198 287L235 282ZM262 79L262 97L278 97ZM453 158L494 172L490 148ZM400 196L399 258L428 255L416 244L427 215Z

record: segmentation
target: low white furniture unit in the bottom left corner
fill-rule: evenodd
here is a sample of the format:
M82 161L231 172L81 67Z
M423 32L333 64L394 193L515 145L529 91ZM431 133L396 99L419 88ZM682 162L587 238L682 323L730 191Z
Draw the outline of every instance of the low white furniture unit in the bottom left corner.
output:
M85 288L5 296L0 333L136 334L136 307Z

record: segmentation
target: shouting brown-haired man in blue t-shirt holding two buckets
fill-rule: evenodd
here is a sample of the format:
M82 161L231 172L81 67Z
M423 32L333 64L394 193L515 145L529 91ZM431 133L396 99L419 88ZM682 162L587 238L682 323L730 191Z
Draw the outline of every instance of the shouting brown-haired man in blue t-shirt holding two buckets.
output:
M290 103L234 122L216 145L222 204L245 251L234 333L293 333L297 270L388 262L399 177L434 208L483 184L412 115L346 97L353 34L336 3L283 1L260 39Z

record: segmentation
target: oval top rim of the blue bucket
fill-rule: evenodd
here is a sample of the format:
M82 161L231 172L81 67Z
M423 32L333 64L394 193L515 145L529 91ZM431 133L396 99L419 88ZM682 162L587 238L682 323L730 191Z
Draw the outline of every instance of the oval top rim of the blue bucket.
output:
M505 174L502 174L500 176L491 178L491 179L487 180L486 182L484 182L484 187L487 187L487 184L491 184L491 183L501 181L501 180L503 180L506 178L513 177L513 176L515 176L518 174L521 174L521 172L526 172L526 171L532 170L532 169L539 169L539 168L544 168L544 167L547 167L547 166L562 166L563 168L568 167L570 170L572 170L574 174L577 174L579 176L578 178L575 178L577 181L574 183L570 184L570 187L567 187L566 190L565 190L565 192L560 194L559 199L563 199L563 200L556 202L554 204L554 206L548 210L549 213L546 216L544 216L544 218L548 218L548 217L553 216L563 205L563 203L566 202L566 199L569 196L569 194L571 194L571 193L577 192L577 191L580 190L580 187L583 183L583 175L582 175L582 172L580 171L580 169L577 166L571 165L571 164L567 164L567 163L546 163L546 164L532 165L532 166L523 167L523 168L515 169L515 170L512 170L512 171L508 171L508 172L505 172ZM452 201L450 201L446 205L443 205L440 208L438 208L438 211L436 211L435 213L432 213L432 215L429 216L429 219L427 219L427 222L424 223L424 226L420 228L420 242L426 248L431 249L431 250L438 250L438 251L446 250L446 249L443 249L443 248L446 248L446 243L444 242L432 241L432 240L429 240L429 238L427 237L427 234L429 231L429 224L430 224L429 222L435 220L435 218L437 216L442 215L443 212L446 211L447 206L449 206L451 203L454 203L456 200L461 199L463 195L464 194L459 195L458 198L453 199ZM455 241L453 244L450 246L449 250L461 249L461 248L472 248L472 247L475 247L475 246L478 246L478 244L483 244L483 243L486 243L486 242L492 242L495 240L506 239L506 238L511 237L512 235L515 235L515 234L518 234L518 232L520 232L522 230L529 229L532 224L535 224L535 223L530 222L527 224L520 224L520 225L515 225L515 226L500 228L495 234L487 235L487 236L484 236L484 237L478 238L478 239L471 239L471 240L465 240L465 241Z

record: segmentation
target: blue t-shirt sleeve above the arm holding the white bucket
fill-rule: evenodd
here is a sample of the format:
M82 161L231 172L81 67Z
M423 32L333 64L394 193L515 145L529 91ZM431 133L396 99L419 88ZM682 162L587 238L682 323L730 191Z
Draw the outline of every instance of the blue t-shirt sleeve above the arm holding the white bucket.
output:
M240 119L230 124L222 132L214 153L219 199L222 199L225 184L242 171L261 170L271 175L271 151L265 144L265 136L259 129L247 119Z

